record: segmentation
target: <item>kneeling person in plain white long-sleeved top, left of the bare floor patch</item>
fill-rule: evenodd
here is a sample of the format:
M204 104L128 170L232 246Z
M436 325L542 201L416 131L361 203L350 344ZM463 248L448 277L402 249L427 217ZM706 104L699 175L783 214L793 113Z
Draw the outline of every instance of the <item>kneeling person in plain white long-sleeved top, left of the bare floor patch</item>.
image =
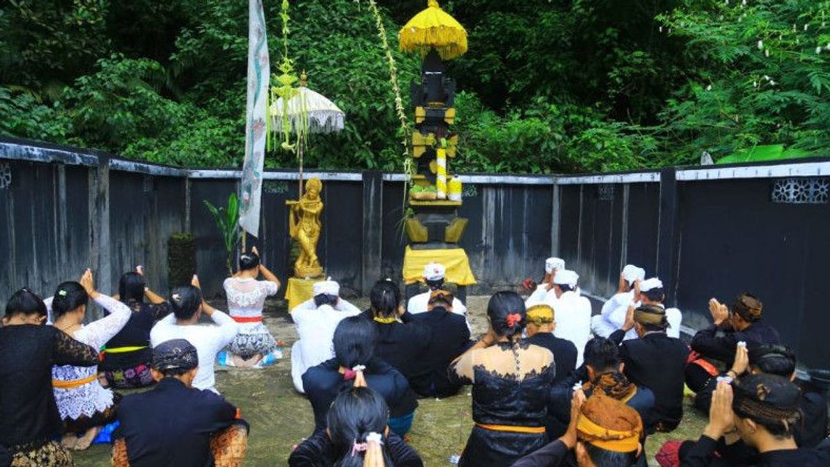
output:
M156 323L150 331L150 343L156 347L173 339L190 342L199 354L199 371L193 380L193 387L218 394L213 362L217 353L236 337L239 329L237 322L204 301L196 276L193 276L191 285L173 289L170 304L173 305L173 314ZM202 313L211 318L214 326L198 323Z

